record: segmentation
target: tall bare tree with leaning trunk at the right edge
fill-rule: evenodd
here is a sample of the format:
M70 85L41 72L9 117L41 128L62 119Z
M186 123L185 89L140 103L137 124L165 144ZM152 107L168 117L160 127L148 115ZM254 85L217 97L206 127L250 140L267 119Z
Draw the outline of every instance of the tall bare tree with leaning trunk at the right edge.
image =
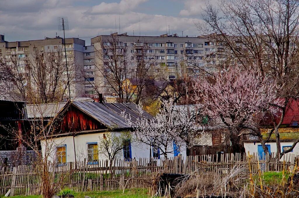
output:
M291 0L225 0L219 1L218 9L208 4L202 17L204 24L198 24L201 33L229 57L230 63L253 69L261 77L270 76L277 82L277 100L272 104L281 113L279 121L271 114L277 155L282 157L291 151L281 151L279 128L286 109L292 100L298 98L298 1ZM263 140L264 141L264 140ZM267 148L264 148L267 149Z

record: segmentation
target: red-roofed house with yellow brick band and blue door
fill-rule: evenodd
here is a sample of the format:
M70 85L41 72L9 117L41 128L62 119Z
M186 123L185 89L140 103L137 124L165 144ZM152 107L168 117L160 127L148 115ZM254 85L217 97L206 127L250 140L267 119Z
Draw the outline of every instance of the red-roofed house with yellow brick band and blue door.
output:
M279 122L280 114L277 113L275 117L276 123ZM263 139L266 140L269 137L269 133L273 128L269 118L263 119L262 123L263 128L261 128ZM286 113L283 119L281 126L279 127L280 135L280 144L281 150L289 149L292 144L299 139L299 101L291 100L288 107L286 108ZM275 134L272 133L269 141L267 141L266 146L268 147L269 152L276 152L276 141ZM256 137L250 136L248 140L244 141L244 147L246 152L258 153L261 157L264 155L264 150L261 143ZM297 144L294 149L290 152L299 155L299 144Z

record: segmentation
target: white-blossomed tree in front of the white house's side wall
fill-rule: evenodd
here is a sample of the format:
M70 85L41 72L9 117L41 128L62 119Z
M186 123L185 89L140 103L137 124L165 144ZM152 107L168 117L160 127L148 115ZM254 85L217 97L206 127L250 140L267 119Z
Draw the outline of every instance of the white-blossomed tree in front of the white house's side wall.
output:
M139 111L142 115L141 107ZM130 118L127 120L130 122ZM188 138L188 132L196 130L195 120L176 111L173 100L164 100L162 108L153 119L138 118L132 127L137 141L159 149L160 154L166 158L167 154L175 152L173 142L181 147L181 150Z

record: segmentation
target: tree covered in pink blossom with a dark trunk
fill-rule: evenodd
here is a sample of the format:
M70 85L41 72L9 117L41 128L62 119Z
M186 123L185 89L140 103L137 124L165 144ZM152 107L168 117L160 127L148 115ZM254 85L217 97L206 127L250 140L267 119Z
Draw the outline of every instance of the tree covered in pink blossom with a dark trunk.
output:
M276 90L276 83L271 79L231 67L212 80L197 80L194 100L203 104L209 117L221 119L228 128L234 151L243 153L242 131L260 131L258 124L275 100Z

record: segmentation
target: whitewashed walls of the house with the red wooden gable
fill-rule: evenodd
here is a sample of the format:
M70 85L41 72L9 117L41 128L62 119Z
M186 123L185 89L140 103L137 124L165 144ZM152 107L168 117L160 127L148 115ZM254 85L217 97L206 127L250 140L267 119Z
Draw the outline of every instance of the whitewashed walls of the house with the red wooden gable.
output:
M87 158L87 146L89 143L98 143L100 137L103 137L103 133L104 132L98 132L98 133L88 133L88 134L80 134L80 135L76 135L74 137L75 140L75 150L76 150L76 158L77 161L83 161L84 158ZM107 133L107 132L106 132ZM119 133L120 132L115 132L115 133ZM66 162L74 162L75 161L75 152L74 152L74 141L73 141L73 136L67 136L67 137L58 137L58 138L54 138L53 140L49 141L51 142L51 156L50 159L51 161L54 161L54 159L56 159L56 150L57 147L61 147L61 146L66 146ZM45 152L45 140L41 141L41 145L42 145L42 152ZM171 145L170 147L172 147L173 145ZM169 148L169 150L171 150L173 148ZM122 153L123 151L121 151ZM139 144L139 143L135 143L132 142L131 143L131 153L132 153L132 159L136 158L149 158L149 146L145 145L145 144ZM180 146L180 153L182 156L184 156L184 158L186 157L186 150L185 150L185 146L182 145ZM153 155L153 154L152 154ZM173 157L174 154L173 153L169 153L168 157ZM123 155L121 154L121 158L123 157ZM161 155L161 157L163 157ZM105 156L99 156L99 159L106 159Z

